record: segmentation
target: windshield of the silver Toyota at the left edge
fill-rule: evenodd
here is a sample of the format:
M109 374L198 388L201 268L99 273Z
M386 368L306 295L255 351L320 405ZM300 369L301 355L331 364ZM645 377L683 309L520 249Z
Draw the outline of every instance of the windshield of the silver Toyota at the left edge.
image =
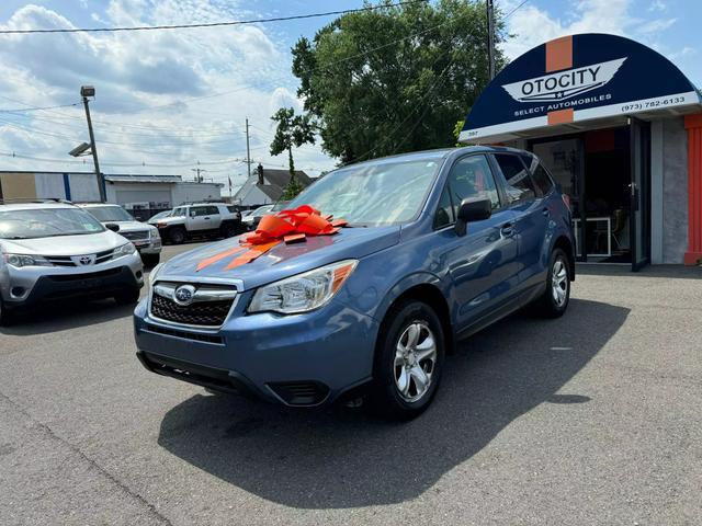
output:
M78 236L104 231L87 211L77 208L45 208L0 211L0 238L33 239Z

